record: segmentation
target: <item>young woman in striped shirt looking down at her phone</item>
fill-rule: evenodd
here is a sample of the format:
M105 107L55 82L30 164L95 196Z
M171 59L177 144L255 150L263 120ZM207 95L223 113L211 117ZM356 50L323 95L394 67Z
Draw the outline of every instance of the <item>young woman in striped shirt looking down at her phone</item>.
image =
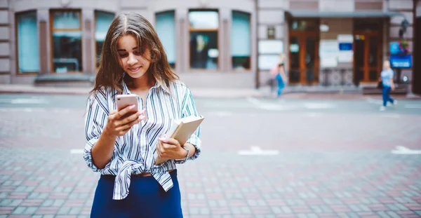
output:
M138 95L116 110L117 94ZM178 81L154 27L137 13L116 17L102 47L88 98L84 156L101 177L91 217L182 217L176 163L201 152L200 129L186 144L161 137L174 119L197 115L192 93ZM156 156L168 160L154 165Z

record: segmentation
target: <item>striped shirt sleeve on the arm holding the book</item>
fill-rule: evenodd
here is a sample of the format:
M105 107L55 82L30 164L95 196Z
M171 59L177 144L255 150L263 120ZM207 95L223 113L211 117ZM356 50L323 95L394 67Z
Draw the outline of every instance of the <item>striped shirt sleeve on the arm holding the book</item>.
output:
M182 104L182 118L187 116L199 116L196 111L196 105L194 104L192 92L189 90L189 88L186 87L185 96L183 98L183 104ZM186 143L193 144L196 148L196 152L194 152L194 155L188 160L194 160L199 157L201 153L201 139L200 139L200 126L196 129L196 131L193 132L192 136L189 137Z

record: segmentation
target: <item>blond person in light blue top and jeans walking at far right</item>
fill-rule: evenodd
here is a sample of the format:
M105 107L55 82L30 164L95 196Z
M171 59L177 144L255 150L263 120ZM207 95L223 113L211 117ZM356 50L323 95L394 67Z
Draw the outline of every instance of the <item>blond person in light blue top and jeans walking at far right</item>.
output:
M380 74L380 81L382 81L382 97L383 97L383 105L380 107L380 111L385 111L387 102L390 102L394 105L396 105L398 102L396 100L393 100L392 97L390 97L389 93L390 90L394 90L394 71L390 68L390 62L385 61L383 62L383 70Z

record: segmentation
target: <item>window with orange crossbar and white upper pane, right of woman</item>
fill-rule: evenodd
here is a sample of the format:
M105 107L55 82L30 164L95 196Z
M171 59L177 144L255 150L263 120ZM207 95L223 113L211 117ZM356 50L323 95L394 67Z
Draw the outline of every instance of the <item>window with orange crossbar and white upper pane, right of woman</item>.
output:
M190 11L190 67L218 68L218 11Z

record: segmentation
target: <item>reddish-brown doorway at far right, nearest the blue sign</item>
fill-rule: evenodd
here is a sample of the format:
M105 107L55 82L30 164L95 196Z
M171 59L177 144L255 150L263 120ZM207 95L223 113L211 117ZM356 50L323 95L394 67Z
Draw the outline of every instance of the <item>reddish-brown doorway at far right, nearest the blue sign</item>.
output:
M354 20L354 84L376 83L382 71L382 22Z

